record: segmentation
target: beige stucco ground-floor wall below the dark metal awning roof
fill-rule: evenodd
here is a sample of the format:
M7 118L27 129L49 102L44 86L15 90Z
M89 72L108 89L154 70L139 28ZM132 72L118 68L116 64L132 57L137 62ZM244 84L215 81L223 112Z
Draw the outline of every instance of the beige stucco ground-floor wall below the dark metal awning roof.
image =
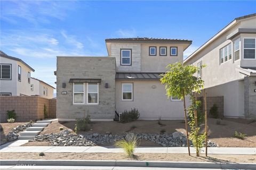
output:
M133 101L122 101L122 83L133 83ZM156 86L156 88L152 88ZM159 80L116 80L116 111L138 108L141 119L183 119L183 101L172 101L167 98L164 85ZM188 102L187 102L188 106Z

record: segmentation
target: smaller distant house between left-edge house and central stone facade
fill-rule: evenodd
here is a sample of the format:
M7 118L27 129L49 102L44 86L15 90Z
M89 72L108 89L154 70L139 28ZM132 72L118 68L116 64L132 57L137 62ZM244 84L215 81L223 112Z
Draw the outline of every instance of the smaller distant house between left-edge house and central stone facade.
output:
M42 80L31 78L31 83L30 83L31 96L38 95L44 98L52 99L54 89L55 89L54 87L52 87L50 84L47 84Z

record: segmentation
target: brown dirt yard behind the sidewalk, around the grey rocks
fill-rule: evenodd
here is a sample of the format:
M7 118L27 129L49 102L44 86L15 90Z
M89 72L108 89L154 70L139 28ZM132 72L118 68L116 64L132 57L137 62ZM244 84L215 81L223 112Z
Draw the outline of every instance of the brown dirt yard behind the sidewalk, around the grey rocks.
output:
M221 120L221 124L216 123L217 120L209 118L209 139L217 143L220 147L256 147L256 122L244 119L225 118ZM47 126L41 134L58 133L59 128L74 130L76 122L57 122L54 121ZM161 130L166 130L166 133L173 133L181 131L185 133L185 123L183 121L134 121L129 123L119 122L93 122L90 124L90 130L87 132L78 132L79 134L100 133L105 134L111 132L112 134L123 134L125 132L134 133L160 133ZM204 128L203 128L204 129ZM244 140L234 138L234 132L238 131L247 134ZM73 132L74 133L74 132ZM24 146L47 146L47 142L29 142ZM109 143L113 145L113 143ZM160 145L151 141L141 141L140 146L161 147Z

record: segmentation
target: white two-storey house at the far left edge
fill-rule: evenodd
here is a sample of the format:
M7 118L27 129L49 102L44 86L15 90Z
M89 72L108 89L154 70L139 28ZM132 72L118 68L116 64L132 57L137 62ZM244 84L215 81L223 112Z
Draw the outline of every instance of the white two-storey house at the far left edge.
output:
M30 75L34 71L19 58L0 51L0 95L30 96Z

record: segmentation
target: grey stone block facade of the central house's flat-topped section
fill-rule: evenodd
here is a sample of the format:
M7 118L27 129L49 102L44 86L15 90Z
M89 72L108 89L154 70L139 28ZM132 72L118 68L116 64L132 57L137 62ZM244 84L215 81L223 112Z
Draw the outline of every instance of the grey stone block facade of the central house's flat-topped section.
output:
M115 74L114 57L57 57L57 118L75 120L90 114L92 119L113 120ZM101 79L99 104L73 104L73 83L69 83L70 79ZM62 86L63 83L66 87ZM84 96L86 100L86 88Z

